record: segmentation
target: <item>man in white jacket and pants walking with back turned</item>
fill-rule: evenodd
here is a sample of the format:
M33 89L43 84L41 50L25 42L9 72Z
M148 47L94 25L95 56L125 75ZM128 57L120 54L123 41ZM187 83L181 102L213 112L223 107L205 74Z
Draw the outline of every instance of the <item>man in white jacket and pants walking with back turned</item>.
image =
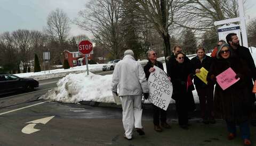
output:
M116 94L117 86L119 96L122 97L124 138L132 139L134 127L139 135L144 135L141 125L141 98L143 93L148 96L149 86L142 66L135 61L130 49L124 52L123 60L115 66L112 91Z

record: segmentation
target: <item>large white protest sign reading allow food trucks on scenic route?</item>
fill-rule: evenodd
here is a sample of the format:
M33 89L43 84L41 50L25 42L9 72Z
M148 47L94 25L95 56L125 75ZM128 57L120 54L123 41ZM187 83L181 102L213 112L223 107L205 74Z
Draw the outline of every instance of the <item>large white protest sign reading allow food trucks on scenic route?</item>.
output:
M167 110L172 97L172 83L166 73L159 67L154 66L148 78L149 97L148 101L155 106Z

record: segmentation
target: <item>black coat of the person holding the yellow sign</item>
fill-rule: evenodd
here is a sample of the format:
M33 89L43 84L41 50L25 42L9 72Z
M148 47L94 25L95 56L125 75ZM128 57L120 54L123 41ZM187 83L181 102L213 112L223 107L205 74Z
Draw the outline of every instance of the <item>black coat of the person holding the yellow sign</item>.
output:
M196 57L191 59L191 63L192 63L192 66L193 66L193 71L192 72L193 72L193 75L194 75L194 84L196 85L196 87L200 87L200 88L206 87L207 84L205 84L202 80L200 80L195 75L195 72L196 72L197 68L200 69L202 67L204 67L209 72L211 64L212 64L212 57L205 55L205 57L204 57L204 59L201 63L198 56L196 56ZM210 84L210 85L212 85L212 84Z

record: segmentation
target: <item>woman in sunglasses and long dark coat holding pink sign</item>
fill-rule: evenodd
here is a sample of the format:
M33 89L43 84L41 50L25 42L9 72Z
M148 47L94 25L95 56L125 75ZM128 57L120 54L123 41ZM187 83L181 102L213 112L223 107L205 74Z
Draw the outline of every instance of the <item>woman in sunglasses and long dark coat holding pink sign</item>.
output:
M239 125L244 145L251 145L248 120L252 103L246 87L246 78L251 76L251 71L243 60L231 52L228 44L222 44L218 47L216 57L207 75L207 80L216 83L215 76L230 67L236 73L235 78L239 78L239 81L225 90L222 90L218 83L216 84L214 92L215 115L220 115L226 120L229 140L236 137L236 125Z

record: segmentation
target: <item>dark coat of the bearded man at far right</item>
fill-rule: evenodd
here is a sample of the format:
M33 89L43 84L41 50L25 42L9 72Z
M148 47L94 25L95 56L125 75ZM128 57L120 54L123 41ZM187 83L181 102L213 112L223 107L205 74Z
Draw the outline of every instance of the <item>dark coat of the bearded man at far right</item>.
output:
M232 49L232 50L233 50L234 55L242 58L251 70L252 76L247 78L247 80L248 80L247 87L248 87L249 91L252 91L252 88L253 88L252 79L253 79L253 81L256 80L256 67L255 67L252 55L250 53L250 50L244 46L239 46L237 49ZM251 99L252 102L255 102L256 99L255 99L254 93L251 93L251 97L252 97L252 99Z

